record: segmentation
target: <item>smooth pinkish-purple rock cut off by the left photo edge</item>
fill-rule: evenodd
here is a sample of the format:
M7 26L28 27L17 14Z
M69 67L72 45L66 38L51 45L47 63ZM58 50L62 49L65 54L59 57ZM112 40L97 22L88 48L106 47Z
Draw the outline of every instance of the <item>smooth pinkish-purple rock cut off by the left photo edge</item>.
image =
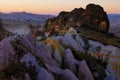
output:
M14 37L3 39L0 42L0 71L7 67L10 57L15 53L11 45L12 40Z

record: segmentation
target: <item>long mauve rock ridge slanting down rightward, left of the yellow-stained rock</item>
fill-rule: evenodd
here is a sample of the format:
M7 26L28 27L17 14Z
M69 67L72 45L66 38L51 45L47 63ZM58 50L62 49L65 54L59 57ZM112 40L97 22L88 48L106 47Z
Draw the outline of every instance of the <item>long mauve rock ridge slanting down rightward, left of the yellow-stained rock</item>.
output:
M34 57L37 57L41 63L50 64L55 67L59 67L59 65L52 59L48 47L44 43L37 43L36 47L34 47L31 42L25 38L24 36L18 35L16 40L19 41L18 45L21 45L24 49L29 51Z

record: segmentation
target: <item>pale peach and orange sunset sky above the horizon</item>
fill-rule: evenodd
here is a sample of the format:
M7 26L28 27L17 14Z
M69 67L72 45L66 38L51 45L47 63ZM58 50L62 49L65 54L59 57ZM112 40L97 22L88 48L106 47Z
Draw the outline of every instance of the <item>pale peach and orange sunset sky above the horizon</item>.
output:
M108 14L120 14L120 0L0 0L0 12L57 15L61 11L85 8L89 3L101 5Z

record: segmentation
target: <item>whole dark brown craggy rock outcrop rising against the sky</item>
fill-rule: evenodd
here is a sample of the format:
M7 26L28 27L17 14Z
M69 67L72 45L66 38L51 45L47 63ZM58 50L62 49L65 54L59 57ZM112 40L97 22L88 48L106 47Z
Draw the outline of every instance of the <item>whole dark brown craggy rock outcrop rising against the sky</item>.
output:
M61 12L57 17L48 19L46 31L61 31L69 27L84 25L90 29L108 32L109 20L104 9L95 4L88 4L86 9L75 8L71 12Z

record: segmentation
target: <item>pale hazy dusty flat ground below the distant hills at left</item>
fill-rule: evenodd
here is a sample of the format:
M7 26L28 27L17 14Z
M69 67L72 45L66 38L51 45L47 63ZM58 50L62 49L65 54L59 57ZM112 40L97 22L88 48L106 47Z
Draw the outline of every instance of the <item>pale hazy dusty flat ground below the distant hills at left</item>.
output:
M2 20L3 27L15 34L27 34L30 30L27 23L22 21Z

